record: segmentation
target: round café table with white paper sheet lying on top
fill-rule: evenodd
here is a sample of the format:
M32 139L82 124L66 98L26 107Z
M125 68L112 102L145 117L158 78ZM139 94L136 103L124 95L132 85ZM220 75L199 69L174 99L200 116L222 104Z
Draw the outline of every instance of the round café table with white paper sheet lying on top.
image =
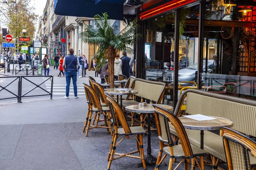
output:
M233 127L234 122L230 119L222 118L222 117L214 117L216 119L213 120L204 120L198 121L195 119L190 119L188 117L179 117L180 122L182 123L185 129L191 130L201 130L201 141L200 148L204 149L204 130L220 130L222 126L224 127Z

